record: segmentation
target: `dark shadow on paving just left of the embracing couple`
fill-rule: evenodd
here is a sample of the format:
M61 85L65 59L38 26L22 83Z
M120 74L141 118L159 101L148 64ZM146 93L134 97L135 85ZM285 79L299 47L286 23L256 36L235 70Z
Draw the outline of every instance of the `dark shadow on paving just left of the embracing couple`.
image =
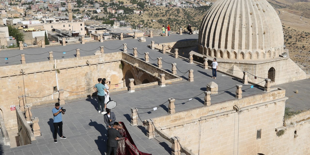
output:
M95 143L98 146L98 150L100 151L100 153L102 155L105 154L105 152L107 152L107 140L108 140L108 134L107 134L107 130L106 127L103 124L98 124L97 122L93 122L91 120L91 122L89 122L88 124L89 126L94 126L95 129L97 131L100 132L101 136L98 136L98 139L95 140Z

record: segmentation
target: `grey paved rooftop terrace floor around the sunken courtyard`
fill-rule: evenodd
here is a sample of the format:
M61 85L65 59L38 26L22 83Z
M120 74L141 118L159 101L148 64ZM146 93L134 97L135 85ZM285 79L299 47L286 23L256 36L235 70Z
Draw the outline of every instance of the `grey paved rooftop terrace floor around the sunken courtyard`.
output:
M164 42L175 42L184 39L198 38L198 35L172 35L170 37L154 37L146 38L147 42L138 42L138 40L130 39L124 41L108 41L103 43L86 43L84 45L67 45L64 47L49 47L49 48L33 48L23 50L23 53L39 53L44 51L69 51L75 48L81 48L84 50L94 49L99 46L107 46L110 49L115 49L119 47L122 43L127 43L128 48L138 47L139 53L149 52L150 63L157 64L157 57L162 57L162 59L168 63L175 62L177 67L181 72L186 72L188 69L193 69L194 72L194 82L188 82L188 73L184 76L183 73L177 70L177 74L182 76L183 81L174 84L166 84L166 87L151 86L143 88L142 90L136 90L134 93L128 93L127 91L112 93L110 95L111 99L117 101L117 107L112 110L115 113L117 121L122 121L125 123L127 129L131 133L131 137L134 139L135 144L138 149L142 152L152 153L153 155L170 155L171 154L171 143L162 139L161 137L156 137L155 139L146 138L146 129L141 126L139 121L139 126L130 126L130 108L150 108L156 107L163 104L168 100L168 98L175 99L185 99L197 96L203 91L206 91L206 84L214 81L219 86L219 94L211 95L211 104L216 104L222 101L234 100L234 94L236 91L236 84L242 84L240 81L233 80L232 77L224 76L218 73L217 79L212 79L212 71L210 69L202 69L201 66L197 64L189 64L187 61L182 59L175 59L171 55L162 54L156 50L151 50L146 47L150 44L151 40L158 43ZM119 49L122 49L119 48ZM109 50L105 49L105 52ZM2 51L5 55L16 55L20 53L19 50L12 51ZM1 52L1 55L2 55ZM92 54L95 51L81 52L82 54ZM179 51L180 52L180 51ZM68 52L65 55L72 55ZM128 53L132 53L132 50L128 50ZM54 58L59 55L54 53ZM47 55L48 56L48 55ZM3 57L3 56L1 56ZM44 56L42 56L44 57ZM45 56L46 57L46 56ZM68 56L73 57L73 56ZM138 57L144 60L144 55L139 55ZM41 55L33 56L32 59L41 58ZM12 58L13 59L13 58ZM15 59L15 58L14 58ZM18 57L20 59L20 57ZM29 59L29 58L28 58ZM44 58L42 60L47 60ZM41 60L41 61L42 61ZM1 60L3 61L3 60ZM38 61L38 60L32 60ZM29 60L26 62L29 63ZM162 62L164 69L171 69L171 64ZM263 79L262 79L263 81ZM309 81L308 81L309 83ZM229 89L231 88L231 89ZM228 90L226 90L228 89ZM226 91L221 91L226 90ZM246 97L249 95L264 93L262 89L250 86L242 87L242 96ZM194 97L193 100L176 100L175 101L175 111L180 112L192 108L203 107L204 94ZM54 108L53 105L41 106L32 109L33 117L40 118L40 128L42 136L37 137L37 141L33 144L21 146L17 148L7 148L4 150L5 155L50 155L50 154L61 154L61 155L104 155L106 151L106 140L107 132L105 129L105 124L103 120L103 115L96 111L96 99L93 98L83 98L80 100L66 101L63 107L67 110L66 114L63 115L64 121L64 136L67 139L59 139L58 143L53 142L52 132L52 114L51 109ZM139 109L138 113L142 120L149 118L159 117L167 115L168 102L161 105L157 110L151 111L153 109ZM158 135L157 135L158 136Z

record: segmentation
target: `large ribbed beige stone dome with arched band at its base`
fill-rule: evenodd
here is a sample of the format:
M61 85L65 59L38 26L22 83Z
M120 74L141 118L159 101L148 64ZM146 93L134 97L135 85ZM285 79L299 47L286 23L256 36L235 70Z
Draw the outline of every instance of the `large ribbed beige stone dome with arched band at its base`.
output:
M283 29L266 0L218 0L203 17L199 52L230 60L265 60L283 53Z

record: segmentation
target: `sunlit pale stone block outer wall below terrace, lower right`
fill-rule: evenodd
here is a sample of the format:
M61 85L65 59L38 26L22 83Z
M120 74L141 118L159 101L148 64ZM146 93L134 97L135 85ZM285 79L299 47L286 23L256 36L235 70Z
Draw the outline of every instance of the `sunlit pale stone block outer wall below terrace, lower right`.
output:
M152 120L168 138L179 136L181 145L194 154L310 153L309 119L282 126L286 99L285 90L278 88L269 93L211 104ZM233 105L237 105L239 110L233 108ZM306 112L297 118L309 116L309 112ZM275 131L279 127L286 129L281 137L277 137ZM260 129L261 137L257 139L257 131ZM295 130L298 135L296 138Z

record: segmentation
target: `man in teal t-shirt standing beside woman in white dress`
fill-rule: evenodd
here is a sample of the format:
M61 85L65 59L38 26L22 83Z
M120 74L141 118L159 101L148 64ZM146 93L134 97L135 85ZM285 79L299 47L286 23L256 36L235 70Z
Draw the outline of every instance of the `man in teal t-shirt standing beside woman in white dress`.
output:
M106 114L107 112L104 112L105 108L107 108L107 105L104 104L104 91L107 92L107 94L109 94L109 92L107 91L107 89L105 89L104 84L101 83L102 78L98 78L98 82L99 83L94 86L94 90L97 92L98 95L98 113L101 112L101 114Z

